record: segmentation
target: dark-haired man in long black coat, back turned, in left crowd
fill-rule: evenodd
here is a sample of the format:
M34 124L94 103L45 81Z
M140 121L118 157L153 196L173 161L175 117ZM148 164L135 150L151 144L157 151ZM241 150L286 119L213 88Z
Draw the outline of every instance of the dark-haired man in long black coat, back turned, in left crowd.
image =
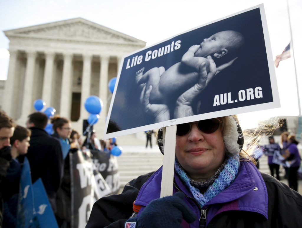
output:
M31 181L34 183L42 179L53 212L56 213L56 191L63 176L63 155L59 140L44 130L47 121L47 115L41 112L28 116L26 126L31 130L31 140L26 157L31 166Z

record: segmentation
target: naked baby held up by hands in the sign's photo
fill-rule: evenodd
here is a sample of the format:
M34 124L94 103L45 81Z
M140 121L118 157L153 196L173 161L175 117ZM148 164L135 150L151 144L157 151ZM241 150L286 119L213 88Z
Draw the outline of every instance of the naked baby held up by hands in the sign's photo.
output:
M177 98L196 84L203 63L206 64L207 72L209 72L210 58L218 59L226 56L228 53L238 50L243 43L243 36L237 31L218 32L204 39L199 45L191 46L182 56L181 62L175 63L167 70L161 66L154 67L144 73L144 68L140 69L136 73L136 82L139 85L146 86L145 88L152 85L150 103L163 104L167 97L174 96ZM235 59L228 64L224 64L223 68L232 64ZM206 85L209 80L210 78L207 78Z

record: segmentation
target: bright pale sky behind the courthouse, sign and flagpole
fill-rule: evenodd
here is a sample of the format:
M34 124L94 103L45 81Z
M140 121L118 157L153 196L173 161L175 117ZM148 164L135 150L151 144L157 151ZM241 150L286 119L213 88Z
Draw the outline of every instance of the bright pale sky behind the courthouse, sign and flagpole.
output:
M10 30L82 17L147 42L147 46L183 31L264 3L272 55L280 54L291 40L285 0L10 0L0 1L0 30ZM301 78L302 1L288 0L298 78ZM0 33L0 79L6 79L9 40ZM294 59L275 68L281 108L239 115L243 128L277 115L298 115ZM302 88L302 80L298 81ZM300 94L302 91L299 91Z

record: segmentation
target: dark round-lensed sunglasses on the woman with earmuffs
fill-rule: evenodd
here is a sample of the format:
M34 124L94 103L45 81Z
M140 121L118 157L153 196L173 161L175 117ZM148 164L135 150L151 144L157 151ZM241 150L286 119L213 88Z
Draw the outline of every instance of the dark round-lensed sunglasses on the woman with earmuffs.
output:
M191 131L192 125L194 123L196 123L196 122L178 124L177 130L176 130L176 135L184 136L184 135L188 134ZM220 121L216 118L213 118L213 119L208 119L208 120L200 120L196 124L197 124L197 127L199 130L201 130L204 133L210 134L210 133L214 133L215 131L217 131L217 129L220 126L220 123L222 123L222 121Z

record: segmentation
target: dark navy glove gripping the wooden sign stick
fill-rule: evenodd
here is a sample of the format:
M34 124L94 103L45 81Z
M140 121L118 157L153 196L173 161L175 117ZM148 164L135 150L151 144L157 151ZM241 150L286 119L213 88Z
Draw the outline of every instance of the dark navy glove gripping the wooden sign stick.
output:
M130 218L127 222L136 222L136 228L182 228L183 219L188 223L196 220L196 214L183 201L184 197L183 192L176 192L173 196L155 199L138 217ZM128 227L127 222L125 227Z

